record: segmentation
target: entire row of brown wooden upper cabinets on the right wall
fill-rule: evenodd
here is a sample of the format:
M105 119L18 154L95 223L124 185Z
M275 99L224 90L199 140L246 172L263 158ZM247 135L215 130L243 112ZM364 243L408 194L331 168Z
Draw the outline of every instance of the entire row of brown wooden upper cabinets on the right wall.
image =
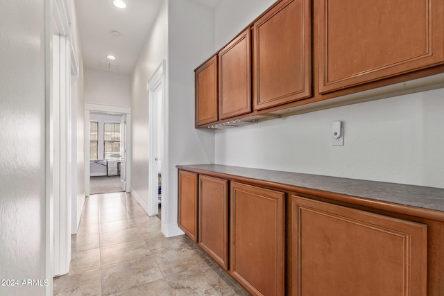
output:
M444 0L276 1L195 70L196 127L356 103L344 96L444 73L443 15Z

